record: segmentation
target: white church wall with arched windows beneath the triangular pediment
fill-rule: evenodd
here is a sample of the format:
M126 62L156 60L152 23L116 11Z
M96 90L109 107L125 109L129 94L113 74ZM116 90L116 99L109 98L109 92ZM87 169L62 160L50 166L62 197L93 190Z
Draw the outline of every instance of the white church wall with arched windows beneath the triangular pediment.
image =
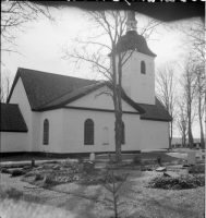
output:
M92 119L95 125L94 145L84 145L84 123ZM138 114L123 114L125 145L122 150L141 149ZM109 144L104 144L104 129L109 132ZM63 109L63 133L60 153L114 152L114 113Z

